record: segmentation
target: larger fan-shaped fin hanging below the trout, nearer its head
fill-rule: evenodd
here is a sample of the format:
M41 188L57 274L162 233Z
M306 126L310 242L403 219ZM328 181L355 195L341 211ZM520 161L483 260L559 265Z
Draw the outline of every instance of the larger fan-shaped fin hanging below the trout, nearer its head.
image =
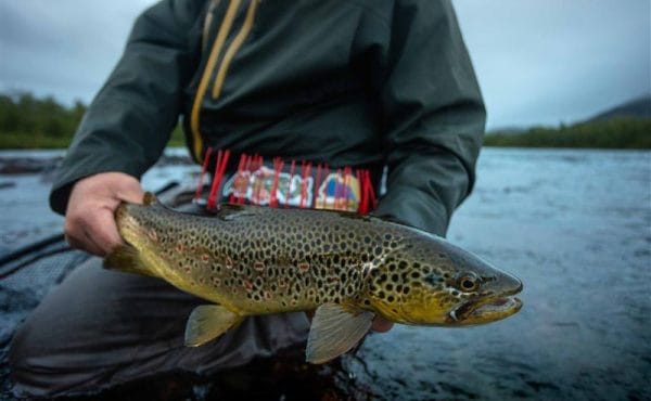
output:
M307 338L306 360L324 363L348 352L371 328L374 314L323 303L317 309Z

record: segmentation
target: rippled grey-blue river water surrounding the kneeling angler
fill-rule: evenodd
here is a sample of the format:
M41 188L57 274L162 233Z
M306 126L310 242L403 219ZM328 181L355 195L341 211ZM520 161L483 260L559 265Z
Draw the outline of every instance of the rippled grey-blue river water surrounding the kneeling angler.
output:
M157 167L143 182L195 172ZM388 400L651 399L651 152L486 148L477 176L448 238L518 275L523 309L370 335L344 359L349 380ZM0 176L0 255L60 230L48 185Z

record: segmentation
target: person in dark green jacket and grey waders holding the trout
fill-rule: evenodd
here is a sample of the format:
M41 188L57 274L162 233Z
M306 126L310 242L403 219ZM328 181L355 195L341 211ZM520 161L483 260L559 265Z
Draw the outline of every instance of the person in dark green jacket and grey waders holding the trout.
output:
M141 202L138 179L179 115L197 161L229 148L366 168L374 182L387 166L373 214L439 235L472 189L485 120L449 1L164 0L138 18L52 189L73 246L104 256L120 244L113 211ZM15 335L16 392L210 374L305 339L304 315L285 314L186 348L199 299L100 266L73 272Z

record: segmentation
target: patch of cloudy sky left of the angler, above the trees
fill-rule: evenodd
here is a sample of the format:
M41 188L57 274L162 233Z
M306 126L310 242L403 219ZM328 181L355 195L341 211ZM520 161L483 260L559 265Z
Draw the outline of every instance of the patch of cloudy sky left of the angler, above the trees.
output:
M0 89L89 102L151 3L0 1Z

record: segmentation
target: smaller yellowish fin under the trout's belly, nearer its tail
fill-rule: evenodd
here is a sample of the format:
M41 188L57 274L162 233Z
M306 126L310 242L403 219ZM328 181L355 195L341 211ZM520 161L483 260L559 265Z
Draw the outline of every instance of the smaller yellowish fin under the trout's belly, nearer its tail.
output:
M237 326L244 318L219 305L194 308L186 324L186 346L199 347Z

